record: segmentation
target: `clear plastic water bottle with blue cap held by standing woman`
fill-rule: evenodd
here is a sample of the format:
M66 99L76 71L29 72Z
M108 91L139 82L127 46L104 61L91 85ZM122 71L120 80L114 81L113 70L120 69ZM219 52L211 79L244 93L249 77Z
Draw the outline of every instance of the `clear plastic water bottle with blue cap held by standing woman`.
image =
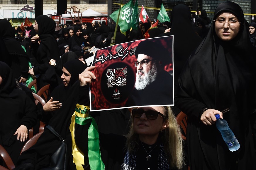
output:
M222 138L226 142L228 149L232 152L238 150L240 148L240 144L232 130L228 127L228 122L224 119L220 119L219 114L216 114L215 117L217 119L216 127L221 132Z

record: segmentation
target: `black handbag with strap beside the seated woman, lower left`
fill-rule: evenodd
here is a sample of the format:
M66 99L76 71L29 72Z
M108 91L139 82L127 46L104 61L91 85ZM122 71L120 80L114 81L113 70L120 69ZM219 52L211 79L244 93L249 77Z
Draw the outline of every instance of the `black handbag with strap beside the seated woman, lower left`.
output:
M43 168L41 170L54 170L61 169L67 170L68 164L68 154L67 154L67 143L65 140L52 128L48 125L45 128L49 129L57 138L62 140L60 147L51 155L50 157L50 166L48 168Z

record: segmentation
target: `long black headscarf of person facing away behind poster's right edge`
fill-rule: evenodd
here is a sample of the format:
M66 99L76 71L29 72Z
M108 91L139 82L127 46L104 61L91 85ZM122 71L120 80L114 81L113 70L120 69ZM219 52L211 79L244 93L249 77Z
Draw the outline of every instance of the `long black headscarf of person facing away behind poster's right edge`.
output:
M173 35L174 86L178 84L179 74L191 53L198 47L202 39L196 35L191 25L189 7L179 4L173 7L171 14L172 28L161 36Z

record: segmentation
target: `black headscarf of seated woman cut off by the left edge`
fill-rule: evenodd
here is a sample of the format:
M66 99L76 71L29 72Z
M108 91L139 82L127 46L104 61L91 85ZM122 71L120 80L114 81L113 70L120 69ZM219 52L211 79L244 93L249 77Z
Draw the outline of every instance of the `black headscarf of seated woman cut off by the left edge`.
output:
M0 61L0 75L2 83L0 84L0 97L10 97L10 93L16 88L16 81L12 75L11 68L4 62ZM12 96L15 96L14 94Z

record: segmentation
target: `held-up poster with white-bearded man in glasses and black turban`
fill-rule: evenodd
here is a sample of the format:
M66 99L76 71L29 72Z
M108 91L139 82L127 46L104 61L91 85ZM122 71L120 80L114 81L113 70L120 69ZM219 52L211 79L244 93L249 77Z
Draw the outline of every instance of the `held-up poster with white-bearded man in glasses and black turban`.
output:
M116 44L95 52L91 111L173 106L173 36Z

